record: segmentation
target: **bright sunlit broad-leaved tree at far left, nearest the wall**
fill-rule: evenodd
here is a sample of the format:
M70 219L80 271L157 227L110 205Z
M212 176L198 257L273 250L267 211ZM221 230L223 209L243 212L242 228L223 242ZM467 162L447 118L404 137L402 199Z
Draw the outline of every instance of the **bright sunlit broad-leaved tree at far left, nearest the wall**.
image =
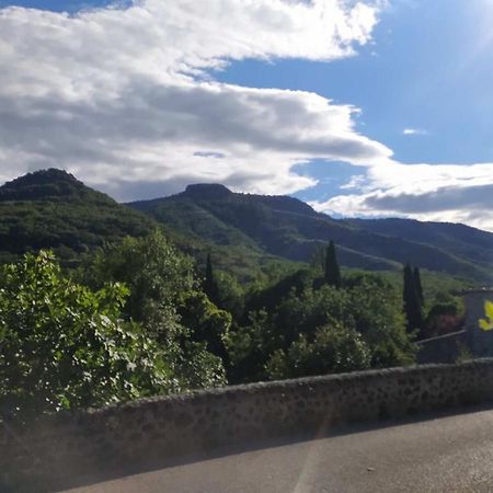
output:
M93 291L54 256L27 254L0 272L0 408L26 419L174 390L164 354L122 321L128 290Z

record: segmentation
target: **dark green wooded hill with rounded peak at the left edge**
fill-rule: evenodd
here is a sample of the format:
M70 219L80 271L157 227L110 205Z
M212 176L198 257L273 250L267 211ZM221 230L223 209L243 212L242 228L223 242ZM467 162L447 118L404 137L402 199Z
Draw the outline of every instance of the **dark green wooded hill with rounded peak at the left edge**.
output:
M44 170L0 186L0 260L49 248L64 259L125 236L142 236L149 217L71 174Z

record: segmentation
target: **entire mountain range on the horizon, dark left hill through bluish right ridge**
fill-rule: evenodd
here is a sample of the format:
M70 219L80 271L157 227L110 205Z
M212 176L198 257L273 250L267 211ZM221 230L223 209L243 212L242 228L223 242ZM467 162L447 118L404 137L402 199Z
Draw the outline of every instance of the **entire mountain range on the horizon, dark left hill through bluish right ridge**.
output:
M123 205L55 169L0 186L0 262L42 248L71 260L156 227L199 261L213 252L217 266L242 278L276 262L309 261L330 240L349 267L392 271L411 262L475 283L493 277L493 234L463 225L335 220L293 197L237 194L219 184Z

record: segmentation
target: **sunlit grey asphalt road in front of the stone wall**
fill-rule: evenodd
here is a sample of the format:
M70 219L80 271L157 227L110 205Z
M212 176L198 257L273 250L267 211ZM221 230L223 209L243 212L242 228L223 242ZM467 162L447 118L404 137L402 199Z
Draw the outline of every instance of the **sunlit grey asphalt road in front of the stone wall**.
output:
M353 432L225 455L70 491L493 492L493 411Z

